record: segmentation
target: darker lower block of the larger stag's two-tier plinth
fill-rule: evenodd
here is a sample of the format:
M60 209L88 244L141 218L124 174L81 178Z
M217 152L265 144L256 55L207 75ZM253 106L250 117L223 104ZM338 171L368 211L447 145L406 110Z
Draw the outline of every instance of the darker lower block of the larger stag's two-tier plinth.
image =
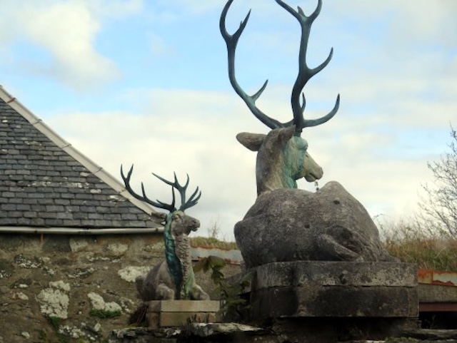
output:
M255 319L278 317L418 317L414 287L271 287L251 292Z

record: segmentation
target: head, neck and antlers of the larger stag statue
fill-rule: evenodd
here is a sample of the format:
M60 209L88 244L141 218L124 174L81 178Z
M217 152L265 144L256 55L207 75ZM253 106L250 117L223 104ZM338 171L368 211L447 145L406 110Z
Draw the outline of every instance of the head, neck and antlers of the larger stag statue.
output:
M326 61L323 61L323 63L316 68L309 68L306 64L306 49L308 46L311 24L313 24L313 21L321 11L321 0L318 0L318 6L310 16L303 14L303 10L300 7L298 7L298 11L295 11L283 1L275 1L294 16L301 26L298 76L293 85L291 94L293 119L286 123L281 123L276 121L276 119L270 118L256 106L256 100L265 90L268 80L265 81L263 86L252 96L249 96L243 91L238 84L238 81L236 81L236 44L246 27L251 11L249 11L246 18L241 21L238 30L236 30L233 35L227 32L225 23L227 11L229 11L229 7L233 0L229 0L226 3L221 14L221 20L219 21L221 34L227 44L231 86L233 86L238 96L243 99L253 115L263 124L268 126L268 128L272 129L267 135L257 133L238 133L238 135L236 135L237 140L246 148L258 151L256 160L257 195L280 188L297 188L296 180L299 178L305 178L307 181L313 182L322 177L322 168L308 154L308 143L301 138L300 135L303 128L321 125L335 116L340 102L340 97L338 95L333 110L326 116L318 119L303 118L303 111L306 106L305 96L302 93L303 88L312 76L316 75L316 73L321 71L328 62L330 62L331 56L333 55L333 48ZM300 94L302 94L302 101L300 101Z

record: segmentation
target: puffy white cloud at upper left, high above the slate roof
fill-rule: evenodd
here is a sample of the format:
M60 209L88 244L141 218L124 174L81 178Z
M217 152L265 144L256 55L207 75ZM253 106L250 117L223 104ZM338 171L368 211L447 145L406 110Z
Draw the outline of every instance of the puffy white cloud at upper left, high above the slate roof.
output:
M39 14L39 15L38 15ZM20 16L24 34L55 59L44 71L75 88L105 83L118 73L114 63L94 49L99 22L84 4L68 2L46 9L30 7Z

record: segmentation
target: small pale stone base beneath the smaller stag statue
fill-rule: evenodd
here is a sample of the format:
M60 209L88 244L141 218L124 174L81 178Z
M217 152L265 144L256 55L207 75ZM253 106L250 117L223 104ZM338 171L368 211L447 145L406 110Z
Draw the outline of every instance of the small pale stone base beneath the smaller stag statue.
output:
M219 301L213 300L154 300L148 305L147 319L151 329L217 322L219 312Z

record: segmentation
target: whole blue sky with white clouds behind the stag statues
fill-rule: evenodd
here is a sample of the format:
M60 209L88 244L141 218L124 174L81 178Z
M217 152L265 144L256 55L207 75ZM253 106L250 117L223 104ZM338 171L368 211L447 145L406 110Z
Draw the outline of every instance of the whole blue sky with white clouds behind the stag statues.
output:
M286 1L305 14L316 0ZM256 153L235 136L268 133L229 83L219 32L225 1L2 0L0 84L74 148L131 185L171 200L183 182L201 200L186 212L197 235L233 225L256 200ZM251 9L236 50L236 78L279 121L292 118L298 72L298 21L273 0L234 0L233 33ZM308 81L306 119L341 105L331 121L306 128L308 152L323 168L319 185L336 180L372 217L400 220L417 210L428 161L448 151L457 126L455 0L323 0L308 44L317 66ZM314 190L306 180L298 188Z

